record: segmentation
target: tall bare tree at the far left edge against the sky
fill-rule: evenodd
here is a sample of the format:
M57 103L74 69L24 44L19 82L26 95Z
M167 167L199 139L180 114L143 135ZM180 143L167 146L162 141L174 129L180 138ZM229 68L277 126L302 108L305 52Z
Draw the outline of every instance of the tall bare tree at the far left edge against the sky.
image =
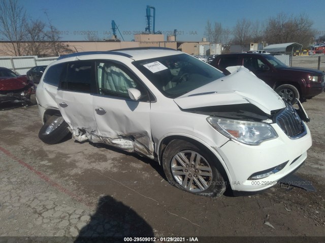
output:
M0 1L0 34L4 41L10 42L10 53L15 56L24 54L24 24L27 20L26 11L18 5L17 0Z

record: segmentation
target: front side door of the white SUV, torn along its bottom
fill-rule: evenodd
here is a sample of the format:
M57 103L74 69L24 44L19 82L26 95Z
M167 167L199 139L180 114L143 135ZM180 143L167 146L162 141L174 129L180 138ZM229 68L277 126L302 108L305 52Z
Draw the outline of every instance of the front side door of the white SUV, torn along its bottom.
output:
M150 99L145 86L128 68L113 61L96 62L97 95L93 96L96 134L107 144L153 157ZM142 98L129 98L127 89L138 89Z

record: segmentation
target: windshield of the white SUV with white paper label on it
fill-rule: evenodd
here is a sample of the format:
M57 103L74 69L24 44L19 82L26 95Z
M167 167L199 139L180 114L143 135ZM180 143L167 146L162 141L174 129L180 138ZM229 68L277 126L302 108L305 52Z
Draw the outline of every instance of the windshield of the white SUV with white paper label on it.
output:
M168 98L179 97L224 76L209 64L187 54L140 60L133 64Z

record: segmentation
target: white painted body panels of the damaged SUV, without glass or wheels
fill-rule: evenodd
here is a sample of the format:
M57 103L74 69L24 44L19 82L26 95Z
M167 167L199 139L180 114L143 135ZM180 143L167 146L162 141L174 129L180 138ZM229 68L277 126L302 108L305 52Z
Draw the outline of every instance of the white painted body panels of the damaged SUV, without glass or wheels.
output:
M298 168L306 158L311 146L311 135L307 125L306 134L299 139L290 139L282 129L272 121L278 137L262 142L257 146L243 144L225 137L216 131L206 120L209 115L186 112L183 109L219 105L253 104L266 114L285 107L281 98L261 79L252 75L246 68L240 67L229 76L192 90L178 98L164 96L139 71L134 60L152 59L180 52L172 50L131 50L116 51L132 57L107 54L91 54L60 59L57 64L75 60L114 60L123 63L142 80L155 97L155 102L101 97L57 90L43 82L42 76L37 89L39 111L44 121L48 109L59 109L64 120L74 133L74 138L88 139L93 142L107 143L126 151L137 151L160 162L160 145L165 138L179 136L198 141L209 149L223 166L233 190L258 191L274 185L281 177ZM209 64L206 64L209 65ZM60 103L68 104L68 109ZM103 109L99 114L96 109ZM100 112L101 113L101 112ZM84 134L79 134L85 131ZM127 139L129 135L138 136L135 141ZM299 157L300 156L300 157ZM298 158L295 163L292 161ZM279 173L259 180L248 180L256 172L264 171L289 161Z

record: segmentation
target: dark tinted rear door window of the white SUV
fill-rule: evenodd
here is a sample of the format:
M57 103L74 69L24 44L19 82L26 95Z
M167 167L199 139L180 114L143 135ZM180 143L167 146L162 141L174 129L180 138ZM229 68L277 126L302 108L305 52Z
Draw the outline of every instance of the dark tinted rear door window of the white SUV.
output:
M78 61L68 63L67 77L62 80L63 90L92 93L94 84L94 62Z

